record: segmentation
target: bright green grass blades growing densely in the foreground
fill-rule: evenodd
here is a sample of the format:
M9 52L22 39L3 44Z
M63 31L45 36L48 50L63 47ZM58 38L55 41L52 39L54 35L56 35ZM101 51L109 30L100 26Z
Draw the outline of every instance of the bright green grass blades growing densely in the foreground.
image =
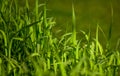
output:
M119 43L116 49L103 48L99 25L96 37L81 31L84 36L77 39L74 5L72 32L56 38L52 34L55 21L47 17L46 4L36 0L31 11L29 0L24 8L17 1L1 0L0 76L120 75Z

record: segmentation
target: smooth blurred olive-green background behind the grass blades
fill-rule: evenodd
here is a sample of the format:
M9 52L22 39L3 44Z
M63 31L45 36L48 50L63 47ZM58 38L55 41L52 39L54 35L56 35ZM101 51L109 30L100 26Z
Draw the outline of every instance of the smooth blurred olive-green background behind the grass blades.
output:
M31 8L34 7L35 0L29 0ZM45 0L39 0L40 4ZM108 36L111 19L113 19L112 27L112 46L116 46L120 38L120 0L48 0L47 15L53 17L56 21L56 26L53 29L54 35L59 36L66 32L66 29L71 31L72 25L72 2L75 7L77 32L80 30L91 31L95 37L96 25L100 27ZM113 8L113 17L111 16L111 3ZM24 6L24 3L20 1ZM61 32L58 32L61 30ZM79 35L79 34L78 34ZM105 38L100 32L100 41L105 44ZM80 36L79 36L80 37Z

